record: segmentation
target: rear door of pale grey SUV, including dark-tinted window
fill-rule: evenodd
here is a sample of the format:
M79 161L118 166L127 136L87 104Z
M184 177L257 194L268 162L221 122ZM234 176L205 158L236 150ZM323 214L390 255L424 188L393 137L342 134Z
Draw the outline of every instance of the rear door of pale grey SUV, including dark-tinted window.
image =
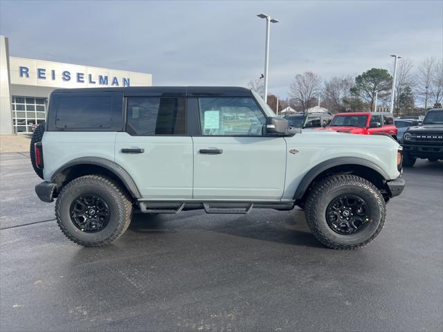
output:
M125 132L116 136L116 163L145 199L192 198L192 138L186 98L128 96Z

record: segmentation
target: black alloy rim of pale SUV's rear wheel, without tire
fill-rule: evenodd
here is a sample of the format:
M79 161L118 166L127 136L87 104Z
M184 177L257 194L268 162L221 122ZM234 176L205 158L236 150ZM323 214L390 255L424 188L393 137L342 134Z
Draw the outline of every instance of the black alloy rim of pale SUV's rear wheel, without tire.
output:
M109 223L109 206L96 194L78 196L69 208L71 221L76 228L86 233L100 232Z

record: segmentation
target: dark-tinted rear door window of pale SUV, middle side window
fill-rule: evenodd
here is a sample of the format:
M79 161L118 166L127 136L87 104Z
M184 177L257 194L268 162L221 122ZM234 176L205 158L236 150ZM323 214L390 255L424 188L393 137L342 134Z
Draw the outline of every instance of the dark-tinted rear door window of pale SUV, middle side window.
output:
M186 135L186 99L127 98L126 131L131 135Z

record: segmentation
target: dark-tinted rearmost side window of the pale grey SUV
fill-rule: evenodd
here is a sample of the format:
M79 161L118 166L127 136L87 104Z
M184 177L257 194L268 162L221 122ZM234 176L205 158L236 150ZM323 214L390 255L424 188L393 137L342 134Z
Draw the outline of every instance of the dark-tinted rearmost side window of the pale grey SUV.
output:
M109 129L112 121L111 96L61 97L55 127L60 129Z

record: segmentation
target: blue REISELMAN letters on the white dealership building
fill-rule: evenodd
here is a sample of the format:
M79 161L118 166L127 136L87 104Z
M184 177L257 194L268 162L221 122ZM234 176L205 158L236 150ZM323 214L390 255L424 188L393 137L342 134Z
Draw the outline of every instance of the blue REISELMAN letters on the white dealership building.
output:
M46 71L46 68L37 68L37 79L39 80L53 80L55 81L55 70L51 69L50 73L49 71ZM59 74L60 75L60 74ZM129 77L123 77L121 82L118 82L118 77L108 77L108 75L98 75L98 77L93 77L92 74L85 74L85 73L71 73L70 71L63 71L61 73L62 80L64 82L69 82L71 78L75 77L74 79L77 80L77 83L84 83L86 80L89 84L99 84L99 85L105 85L105 86L129 86ZM19 76L20 77L29 77L29 68L26 66L19 66ZM87 76L87 78L85 77ZM109 84L110 83L110 84Z

